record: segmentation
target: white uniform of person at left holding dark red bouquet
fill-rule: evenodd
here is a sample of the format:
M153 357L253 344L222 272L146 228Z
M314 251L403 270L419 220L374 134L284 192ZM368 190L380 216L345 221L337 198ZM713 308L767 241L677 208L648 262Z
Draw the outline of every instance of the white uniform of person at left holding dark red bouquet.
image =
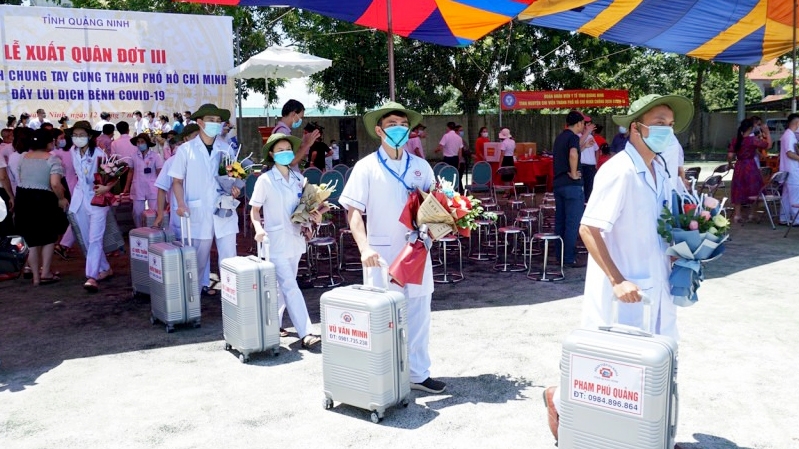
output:
M103 252L105 220L109 207L91 204L94 196L94 174L97 173L98 161L105 157L105 152L95 148L94 152L89 149L81 156L80 149L74 146L69 152L72 154L72 166L78 175L69 211L75 215L75 221L86 245L86 277L97 279L100 272L111 268Z

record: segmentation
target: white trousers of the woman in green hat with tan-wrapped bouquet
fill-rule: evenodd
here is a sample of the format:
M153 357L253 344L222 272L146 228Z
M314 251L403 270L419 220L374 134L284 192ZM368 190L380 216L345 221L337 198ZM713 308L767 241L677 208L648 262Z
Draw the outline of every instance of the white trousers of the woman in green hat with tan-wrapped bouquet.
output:
M297 335L303 338L311 333L311 317L308 315L308 307L305 305L302 291L297 285L297 268L300 265L300 257L270 258L270 261L275 264L277 277L278 323L283 322L283 313L288 309L289 318L291 318L294 329L297 330Z

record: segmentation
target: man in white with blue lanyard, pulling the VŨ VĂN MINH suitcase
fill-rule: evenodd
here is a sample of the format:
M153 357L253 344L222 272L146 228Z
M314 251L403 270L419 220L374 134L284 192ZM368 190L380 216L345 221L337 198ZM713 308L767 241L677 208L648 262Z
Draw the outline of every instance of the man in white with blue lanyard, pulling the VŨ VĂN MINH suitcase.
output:
M358 244L364 267L379 267L381 259L391 264L397 258L406 244L408 229L400 223L399 217L409 192L416 189L428 191L435 183L430 164L403 150L411 128L421 120L421 114L395 102L388 102L363 117L366 131L370 136L380 139L381 145L377 151L355 164L339 203L347 210L352 236ZM460 140L457 134L454 136ZM365 225L364 213L369 217ZM428 346L430 301L433 295L430 255L427 255L421 285L406 284L401 288L390 284L387 288L402 292L408 299L411 389L428 393L443 392L446 384L430 377Z

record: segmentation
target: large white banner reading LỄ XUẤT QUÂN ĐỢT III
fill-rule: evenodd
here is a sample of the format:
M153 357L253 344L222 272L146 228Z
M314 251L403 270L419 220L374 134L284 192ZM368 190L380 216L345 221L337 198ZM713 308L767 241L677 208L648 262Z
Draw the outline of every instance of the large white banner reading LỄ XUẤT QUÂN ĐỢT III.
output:
M0 107L56 123L233 110L231 17L0 6Z

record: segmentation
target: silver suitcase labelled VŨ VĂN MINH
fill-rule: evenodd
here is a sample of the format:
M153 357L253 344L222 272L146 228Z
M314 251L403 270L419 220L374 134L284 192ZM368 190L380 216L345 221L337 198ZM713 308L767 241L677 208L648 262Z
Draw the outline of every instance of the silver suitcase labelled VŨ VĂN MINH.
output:
M388 267L381 268L388 285ZM408 322L405 295L350 285L320 298L324 406L333 401L370 410L380 422L386 408L408 406Z

